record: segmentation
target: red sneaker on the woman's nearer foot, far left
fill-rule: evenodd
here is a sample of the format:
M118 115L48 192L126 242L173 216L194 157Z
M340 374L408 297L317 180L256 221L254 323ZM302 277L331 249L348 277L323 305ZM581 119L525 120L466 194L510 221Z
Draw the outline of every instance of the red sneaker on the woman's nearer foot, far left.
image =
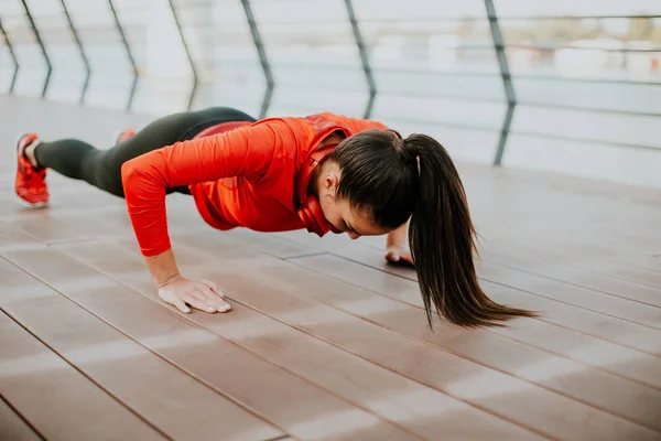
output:
M46 169L35 169L25 157L25 149L34 141L36 141L36 133L26 133L19 139L14 190L21 203L30 208L41 208L48 205Z

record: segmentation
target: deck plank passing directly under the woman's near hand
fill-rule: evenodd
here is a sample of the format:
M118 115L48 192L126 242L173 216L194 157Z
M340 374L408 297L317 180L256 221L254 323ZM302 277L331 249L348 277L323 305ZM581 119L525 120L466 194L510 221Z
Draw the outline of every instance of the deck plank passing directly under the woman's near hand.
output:
M158 301L153 282L141 257L109 243L57 247ZM182 268L199 267L189 254L177 254ZM121 262L121 265L118 265ZM202 272L201 277L209 277ZM286 303L279 305L283 311ZM291 311L295 313L296 311ZM299 332L253 310L235 303L230 314L193 314L188 318L218 335L312 383L333 390L426 439L438 433L456 439L529 438L534 435L489 413L448 398L390 370L355 357L311 335ZM245 329L252 331L246 335ZM311 357L310 354L314 354ZM333 366L333 369L325 368ZM430 412L430 409L434 409ZM479 421L479 423L475 423Z

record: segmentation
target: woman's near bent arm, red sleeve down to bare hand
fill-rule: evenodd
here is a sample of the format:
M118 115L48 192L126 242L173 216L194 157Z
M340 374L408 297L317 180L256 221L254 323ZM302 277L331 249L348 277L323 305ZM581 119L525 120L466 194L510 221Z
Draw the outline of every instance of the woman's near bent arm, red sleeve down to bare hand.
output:
M122 165L128 212L161 299L183 312L189 312L186 303L207 312L229 310L216 283L180 273L167 234L166 190L238 175L259 180L281 142L295 142L293 133L284 122L271 121L177 142Z

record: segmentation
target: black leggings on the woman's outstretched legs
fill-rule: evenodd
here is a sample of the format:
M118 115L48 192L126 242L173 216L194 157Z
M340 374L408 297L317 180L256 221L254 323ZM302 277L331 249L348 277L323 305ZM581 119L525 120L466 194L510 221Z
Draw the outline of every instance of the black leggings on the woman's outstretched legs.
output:
M158 119L109 150L97 150L77 139L41 142L34 149L39 166L65 176L83 180L116 196L123 197L121 165L141 154L175 142L193 139L220 122L254 121L254 118L228 107L174 114ZM187 187L167 189L167 193L191 194Z

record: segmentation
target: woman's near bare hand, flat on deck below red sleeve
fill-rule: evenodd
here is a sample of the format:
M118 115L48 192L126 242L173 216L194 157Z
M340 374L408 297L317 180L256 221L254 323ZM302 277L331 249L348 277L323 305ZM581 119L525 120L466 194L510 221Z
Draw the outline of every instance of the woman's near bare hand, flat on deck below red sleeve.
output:
M220 287L209 280L176 276L159 287L159 297L184 313L191 312L187 305L209 313L231 310L229 303L224 300Z

